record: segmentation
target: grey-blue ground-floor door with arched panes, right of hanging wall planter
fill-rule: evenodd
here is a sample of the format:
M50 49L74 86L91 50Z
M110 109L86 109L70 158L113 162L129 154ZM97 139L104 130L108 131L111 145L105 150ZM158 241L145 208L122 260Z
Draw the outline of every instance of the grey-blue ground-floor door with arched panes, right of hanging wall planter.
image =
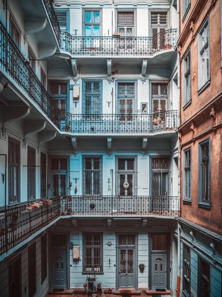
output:
M152 281L153 289L166 289L166 254L152 254Z

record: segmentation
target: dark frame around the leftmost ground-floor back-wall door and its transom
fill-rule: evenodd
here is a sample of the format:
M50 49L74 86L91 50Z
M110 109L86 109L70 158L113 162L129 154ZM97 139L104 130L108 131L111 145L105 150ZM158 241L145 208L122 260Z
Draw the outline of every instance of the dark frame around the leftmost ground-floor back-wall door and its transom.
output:
M48 260L49 260L49 271L48 271L48 284L49 284L49 289L58 289L58 288L54 288L53 286L53 267L54 267L54 252L49 252L49 250L54 251L54 250L59 250L59 249L63 249L63 250L67 250L67 263L66 263L66 267L67 267L67 271L66 271L66 275L67 275L67 290L70 290L70 232L50 232L49 231L49 245L48 245ZM67 247L52 247L52 235L53 234L66 234L67 235ZM66 289L66 288L64 288Z

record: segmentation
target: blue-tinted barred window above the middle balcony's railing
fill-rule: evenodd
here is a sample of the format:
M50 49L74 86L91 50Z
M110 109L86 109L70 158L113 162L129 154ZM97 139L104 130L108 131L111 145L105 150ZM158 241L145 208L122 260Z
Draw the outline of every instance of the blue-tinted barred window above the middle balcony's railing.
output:
M83 82L83 113L100 114L102 112L101 81Z

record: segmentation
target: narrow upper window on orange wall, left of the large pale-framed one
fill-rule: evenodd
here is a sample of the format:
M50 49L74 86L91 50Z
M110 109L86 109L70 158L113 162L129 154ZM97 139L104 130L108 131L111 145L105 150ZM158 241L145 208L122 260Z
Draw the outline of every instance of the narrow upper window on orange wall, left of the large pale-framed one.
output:
M184 58L184 106L191 100L190 77L190 51L188 51Z

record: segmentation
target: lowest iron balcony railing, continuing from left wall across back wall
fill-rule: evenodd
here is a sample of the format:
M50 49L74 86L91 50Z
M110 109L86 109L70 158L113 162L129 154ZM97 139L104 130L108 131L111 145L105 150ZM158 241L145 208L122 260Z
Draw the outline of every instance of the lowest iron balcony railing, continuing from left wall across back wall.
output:
M0 255L60 216L178 216L176 196L69 196L51 200L51 205L44 204L33 211L24 204L7 209L4 218L0 216Z

